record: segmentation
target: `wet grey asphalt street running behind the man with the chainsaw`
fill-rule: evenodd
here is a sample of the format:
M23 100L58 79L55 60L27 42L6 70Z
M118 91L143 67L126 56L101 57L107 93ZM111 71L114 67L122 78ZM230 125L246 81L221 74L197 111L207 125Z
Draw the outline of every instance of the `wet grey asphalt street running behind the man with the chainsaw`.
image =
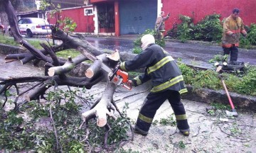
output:
M122 36L121 38L95 38L85 37L97 48L107 48L108 50L119 50L120 52L132 52L134 48L134 40L139 36L129 36L129 39ZM223 55L222 47L218 45L183 43L166 39L164 49L169 52L175 59L181 58L182 62L191 65L199 65L200 67L213 67L209 60L215 55ZM238 62L248 64L256 64L256 50L239 49Z

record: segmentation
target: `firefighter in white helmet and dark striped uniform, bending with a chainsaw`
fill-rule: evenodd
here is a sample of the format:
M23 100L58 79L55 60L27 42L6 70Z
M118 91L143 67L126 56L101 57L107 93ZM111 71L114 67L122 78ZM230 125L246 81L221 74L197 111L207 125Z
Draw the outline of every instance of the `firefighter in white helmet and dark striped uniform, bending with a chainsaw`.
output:
M153 86L139 111L134 132L146 136L156 111L168 99L176 116L178 130L181 134L188 136L188 120L180 97L180 94L187 92L187 89L184 86L181 70L173 57L155 44L153 35L144 35L141 42L142 53L134 57L133 60L120 64L120 69L124 71L146 67L144 74L128 81L129 85L139 86L151 79Z

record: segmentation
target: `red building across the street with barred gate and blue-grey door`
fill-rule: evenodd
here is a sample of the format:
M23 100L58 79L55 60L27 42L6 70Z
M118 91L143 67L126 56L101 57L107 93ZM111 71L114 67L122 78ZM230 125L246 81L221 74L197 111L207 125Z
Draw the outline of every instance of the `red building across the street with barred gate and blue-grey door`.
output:
M86 2L86 0L85 0ZM240 8L244 23L256 23L255 0L90 0L87 5L63 8L62 16L72 18L78 25L75 33L105 33L108 35L142 34L153 29L161 11L171 13L166 30L172 28L179 15L190 16L194 22L207 15L218 13L221 18L230 15L233 8ZM51 19L50 23L54 23Z

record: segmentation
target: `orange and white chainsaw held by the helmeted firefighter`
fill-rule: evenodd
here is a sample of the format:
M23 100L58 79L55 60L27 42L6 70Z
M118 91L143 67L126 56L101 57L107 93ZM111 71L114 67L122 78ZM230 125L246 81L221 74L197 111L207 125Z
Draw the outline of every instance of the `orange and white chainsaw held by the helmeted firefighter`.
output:
M83 49L82 47L80 47L80 49L83 51L82 55L87 57L92 62L95 62L95 60L100 60L97 57L95 57L95 55L92 55L90 52L87 52L87 50ZM106 64L102 62L101 68L108 73L108 79L112 81L114 84L117 84L118 86L121 85L128 90L132 89L132 86L127 85L129 77L128 73L119 69L119 64L117 64L114 69L110 69L110 67L108 67Z

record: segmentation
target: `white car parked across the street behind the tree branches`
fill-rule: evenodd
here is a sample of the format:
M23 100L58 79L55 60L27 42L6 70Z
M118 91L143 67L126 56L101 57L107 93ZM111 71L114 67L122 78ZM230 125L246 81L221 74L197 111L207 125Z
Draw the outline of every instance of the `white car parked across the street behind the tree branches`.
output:
M33 35L46 35L51 33L50 24L43 18L21 18L18 20L18 28L22 35L33 38ZM11 35L11 28L8 27Z

